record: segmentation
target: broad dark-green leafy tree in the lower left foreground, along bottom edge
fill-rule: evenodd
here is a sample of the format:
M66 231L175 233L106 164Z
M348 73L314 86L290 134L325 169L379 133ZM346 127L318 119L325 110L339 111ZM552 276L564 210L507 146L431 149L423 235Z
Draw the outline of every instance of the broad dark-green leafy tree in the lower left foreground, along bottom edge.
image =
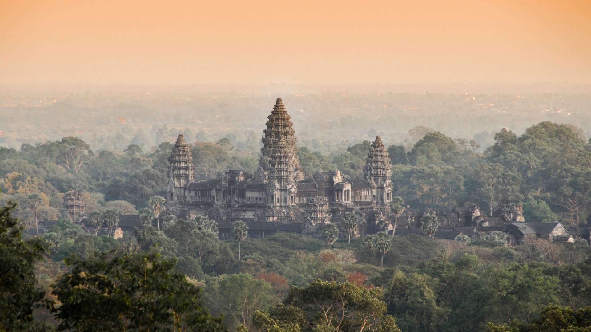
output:
M224 331L203 308L200 289L171 272L158 253L68 258L49 302L59 331Z

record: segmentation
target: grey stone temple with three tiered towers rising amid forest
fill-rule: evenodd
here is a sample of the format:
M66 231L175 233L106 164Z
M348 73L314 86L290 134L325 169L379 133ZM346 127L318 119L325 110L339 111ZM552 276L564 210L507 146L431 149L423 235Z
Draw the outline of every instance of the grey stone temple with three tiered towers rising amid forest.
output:
M254 174L229 170L215 180L194 181L189 145L178 135L168 158L168 211L177 217L216 220L222 239L230 236L236 220L249 225L251 237L278 230L311 234L319 224L339 222L347 212L363 222L361 233L383 226L392 183L390 159L379 136L368 151L363 181L350 181L338 170L304 178L291 116L281 98L267 118Z

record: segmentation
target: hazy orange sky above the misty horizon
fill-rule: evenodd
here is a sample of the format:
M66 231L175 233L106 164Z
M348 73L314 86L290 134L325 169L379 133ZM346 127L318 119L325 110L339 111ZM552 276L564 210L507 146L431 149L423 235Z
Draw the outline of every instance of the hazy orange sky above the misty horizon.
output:
M0 1L0 83L591 83L591 1Z

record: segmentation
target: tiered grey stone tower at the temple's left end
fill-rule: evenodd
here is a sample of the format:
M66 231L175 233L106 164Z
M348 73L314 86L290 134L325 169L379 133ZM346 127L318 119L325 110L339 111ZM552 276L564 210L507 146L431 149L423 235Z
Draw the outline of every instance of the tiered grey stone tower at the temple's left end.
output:
M186 202L189 199L189 184L193 181L193 157L183 134L178 134L168 162L168 201Z

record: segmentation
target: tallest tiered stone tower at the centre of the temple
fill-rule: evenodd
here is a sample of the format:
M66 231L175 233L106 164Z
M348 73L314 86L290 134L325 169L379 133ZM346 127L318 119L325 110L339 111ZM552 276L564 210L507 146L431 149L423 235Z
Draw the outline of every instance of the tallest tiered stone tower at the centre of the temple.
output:
M263 131L262 138L262 156L255 175L267 183L268 205L291 206L296 203L296 183L304 179L304 173L297 158L291 116L285 110L281 98L277 98L267 118L267 129Z

